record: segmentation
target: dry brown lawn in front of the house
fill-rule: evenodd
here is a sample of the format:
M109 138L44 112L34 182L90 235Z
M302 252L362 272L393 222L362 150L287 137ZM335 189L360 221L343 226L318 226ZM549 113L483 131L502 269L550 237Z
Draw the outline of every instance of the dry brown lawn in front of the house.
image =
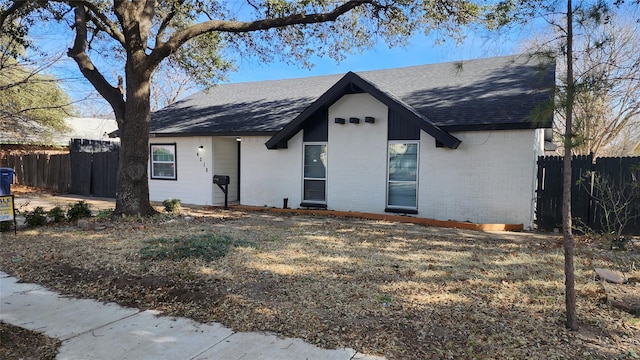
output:
M570 332L554 235L216 209L91 221L4 233L0 269L67 294L389 359L640 357L640 319L608 306L594 273L640 277L637 243L612 252L577 238L580 330ZM145 240L201 234L251 245L213 261L141 259Z

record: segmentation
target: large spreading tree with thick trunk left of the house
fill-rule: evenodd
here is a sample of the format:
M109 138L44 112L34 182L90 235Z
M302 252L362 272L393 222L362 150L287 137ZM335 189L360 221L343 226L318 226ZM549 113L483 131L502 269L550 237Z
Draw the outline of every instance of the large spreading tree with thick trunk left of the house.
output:
M417 31L456 33L485 10L474 0L0 0L0 26L21 39L29 28L16 24L71 27L68 56L110 104L120 130L115 212L147 215L154 212L147 181L150 83L166 59L207 79L228 68L220 55L227 50L306 66L311 55L342 59L378 39L394 45ZM121 60L119 82L100 71L106 59Z

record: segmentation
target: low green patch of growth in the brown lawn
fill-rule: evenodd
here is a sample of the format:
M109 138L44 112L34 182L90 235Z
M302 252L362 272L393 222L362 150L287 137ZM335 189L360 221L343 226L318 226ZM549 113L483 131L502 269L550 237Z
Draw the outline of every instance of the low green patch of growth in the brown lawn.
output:
M138 252L143 260L178 260L201 258L215 260L229 253L231 247L254 246L251 242L227 235L205 234L186 238L146 240Z

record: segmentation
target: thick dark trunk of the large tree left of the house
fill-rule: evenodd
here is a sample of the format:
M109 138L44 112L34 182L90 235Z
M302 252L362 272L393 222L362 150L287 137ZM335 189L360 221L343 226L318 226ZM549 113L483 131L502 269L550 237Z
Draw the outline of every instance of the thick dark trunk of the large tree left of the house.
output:
M151 70L144 52L127 54L126 102L120 128L116 215L153 215L149 202L149 122Z

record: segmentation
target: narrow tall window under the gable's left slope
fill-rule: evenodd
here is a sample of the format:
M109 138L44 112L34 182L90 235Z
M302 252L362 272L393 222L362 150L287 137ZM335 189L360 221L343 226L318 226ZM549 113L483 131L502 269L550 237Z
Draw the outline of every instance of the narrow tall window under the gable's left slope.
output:
M304 145L303 201L325 203L327 183L327 145Z

